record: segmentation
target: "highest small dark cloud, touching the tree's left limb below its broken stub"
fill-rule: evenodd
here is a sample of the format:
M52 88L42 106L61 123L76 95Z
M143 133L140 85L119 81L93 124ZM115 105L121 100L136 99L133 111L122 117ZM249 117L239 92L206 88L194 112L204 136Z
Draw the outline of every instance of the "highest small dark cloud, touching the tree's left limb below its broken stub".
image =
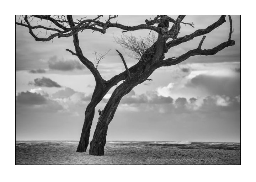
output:
M60 71L82 70L85 68L78 60L57 60L57 56L50 58L48 64L50 69Z

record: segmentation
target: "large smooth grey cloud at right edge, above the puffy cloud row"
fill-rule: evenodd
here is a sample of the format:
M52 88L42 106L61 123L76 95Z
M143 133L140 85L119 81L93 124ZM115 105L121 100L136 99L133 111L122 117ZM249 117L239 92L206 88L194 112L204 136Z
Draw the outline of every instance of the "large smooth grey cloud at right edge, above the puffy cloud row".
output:
M218 77L210 75L198 75L186 85L198 89L206 89L210 95L238 96L241 92L240 76Z

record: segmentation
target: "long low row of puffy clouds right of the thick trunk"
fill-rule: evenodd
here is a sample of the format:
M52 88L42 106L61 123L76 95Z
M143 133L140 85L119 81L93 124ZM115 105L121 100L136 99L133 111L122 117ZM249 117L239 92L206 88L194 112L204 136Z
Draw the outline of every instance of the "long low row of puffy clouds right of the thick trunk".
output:
M222 110L237 110L240 108L240 95L230 97L225 95L212 95L200 98L158 96L157 92L136 95L134 91L121 100L119 111L139 112L149 111L158 113L191 113L213 112Z

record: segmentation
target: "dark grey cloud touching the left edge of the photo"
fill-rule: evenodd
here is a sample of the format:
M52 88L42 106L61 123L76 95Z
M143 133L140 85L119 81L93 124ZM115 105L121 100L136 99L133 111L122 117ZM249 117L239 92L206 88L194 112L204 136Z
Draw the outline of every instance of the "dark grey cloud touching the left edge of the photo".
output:
M32 92L21 92L16 96L16 102L25 105L42 105L46 103L46 98L44 98L40 93Z

